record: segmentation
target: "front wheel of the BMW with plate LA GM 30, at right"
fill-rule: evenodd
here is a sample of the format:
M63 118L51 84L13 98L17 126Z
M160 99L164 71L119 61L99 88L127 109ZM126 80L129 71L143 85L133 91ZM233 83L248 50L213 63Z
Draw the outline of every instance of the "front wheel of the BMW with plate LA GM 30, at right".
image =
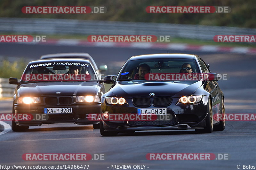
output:
M212 116L212 101L208 100L208 114L206 116L206 125L204 129L196 129L197 133L212 133L213 130L213 116Z

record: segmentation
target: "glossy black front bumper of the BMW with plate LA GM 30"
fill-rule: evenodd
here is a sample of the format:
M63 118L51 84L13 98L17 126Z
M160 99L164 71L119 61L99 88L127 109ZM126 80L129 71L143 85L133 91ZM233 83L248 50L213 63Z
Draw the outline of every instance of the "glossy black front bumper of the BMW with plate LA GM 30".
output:
M179 98L173 98L172 103L167 106L167 115L172 115L172 120L167 122L154 122L146 124L141 121L134 123L133 121L103 121L105 130L125 131L125 130L185 130L185 129L204 129L206 125L208 96L203 96L203 99L198 104L184 105L178 103ZM109 105L102 98L101 112L102 113L127 113L137 114L137 109L131 99L127 99L127 104L124 105ZM148 108L158 108L150 106ZM140 123L141 122L141 123Z

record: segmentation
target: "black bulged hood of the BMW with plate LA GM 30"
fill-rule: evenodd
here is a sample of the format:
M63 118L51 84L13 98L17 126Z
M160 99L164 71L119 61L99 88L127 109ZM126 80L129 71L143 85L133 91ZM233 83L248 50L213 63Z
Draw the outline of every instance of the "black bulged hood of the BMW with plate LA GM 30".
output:
M184 95L192 95L196 89L202 85L202 81L137 81L137 82L117 82L112 88L112 93L117 97L149 97L150 93L157 96L181 97Z

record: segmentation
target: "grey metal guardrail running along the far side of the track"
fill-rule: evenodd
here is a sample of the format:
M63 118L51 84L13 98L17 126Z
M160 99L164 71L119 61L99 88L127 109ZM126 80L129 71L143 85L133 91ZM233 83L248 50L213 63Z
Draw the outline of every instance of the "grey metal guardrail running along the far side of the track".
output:
M166 23L91 21L46 18L0 18L0 33L170 35L212 40L214 35L254 35L256 29Z

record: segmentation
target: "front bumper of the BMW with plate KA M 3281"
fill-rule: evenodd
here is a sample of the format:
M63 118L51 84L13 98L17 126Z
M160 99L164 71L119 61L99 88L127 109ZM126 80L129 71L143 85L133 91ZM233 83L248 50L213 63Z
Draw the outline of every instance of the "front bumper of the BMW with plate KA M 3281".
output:
M44 114L44 108L72 107L72 114ZM52 123L75 123L78 125L98 124L99 121L88 120L86 115L99 114L100 103L97 104L72 104L65 106L25 105L14 104L15 114L32 115L33 120L15 120L16 125L36 126Z

